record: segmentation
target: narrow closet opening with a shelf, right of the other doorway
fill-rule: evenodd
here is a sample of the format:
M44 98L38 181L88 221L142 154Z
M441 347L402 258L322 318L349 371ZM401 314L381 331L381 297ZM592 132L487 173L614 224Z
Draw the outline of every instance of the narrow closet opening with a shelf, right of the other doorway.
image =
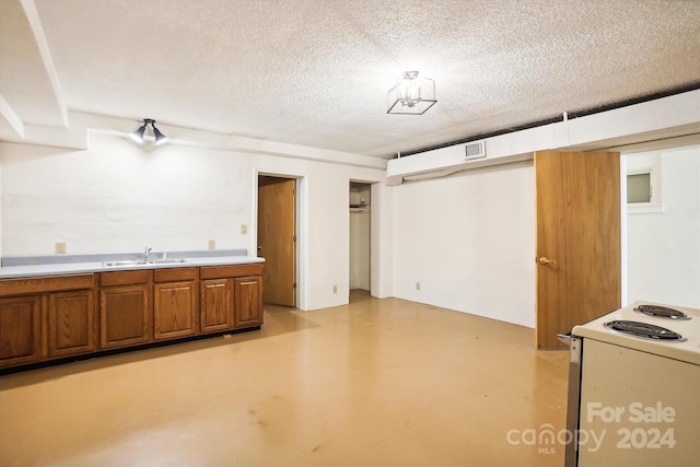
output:
M350 182L350 293L371 290L371 185Z

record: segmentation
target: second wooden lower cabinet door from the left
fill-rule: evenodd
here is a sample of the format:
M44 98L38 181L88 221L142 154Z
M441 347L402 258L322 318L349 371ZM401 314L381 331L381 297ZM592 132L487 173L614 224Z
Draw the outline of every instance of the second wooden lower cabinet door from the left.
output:
M95 301L92 290L48 296L48 355L65 357L96 349Z

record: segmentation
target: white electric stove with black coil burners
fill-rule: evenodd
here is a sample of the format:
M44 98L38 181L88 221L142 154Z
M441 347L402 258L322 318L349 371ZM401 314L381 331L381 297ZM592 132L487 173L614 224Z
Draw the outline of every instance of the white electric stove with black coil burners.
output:
M571 330L567 467L700 465L700 310L637 302Z

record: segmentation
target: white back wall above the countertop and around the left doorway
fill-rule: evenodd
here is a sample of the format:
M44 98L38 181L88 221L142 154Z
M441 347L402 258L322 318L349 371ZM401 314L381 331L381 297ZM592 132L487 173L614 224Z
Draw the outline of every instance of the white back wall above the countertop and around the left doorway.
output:
M300 179L300 308L347 303L350 179L384 171L92 133L88 150L4 143L3 254L247 248L255 255L257 173ZM247 234L241 234L246 224ZM332 292L337 285L338 292ZM380 284L381 285L381 284ZM385 285L382 285L386 289Z

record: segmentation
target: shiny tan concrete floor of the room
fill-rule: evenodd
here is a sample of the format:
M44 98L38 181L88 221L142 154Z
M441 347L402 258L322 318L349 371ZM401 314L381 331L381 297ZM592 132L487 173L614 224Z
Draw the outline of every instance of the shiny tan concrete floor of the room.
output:
M564 428L567 365L533 329L364 292L266 306L259 331L0 377L0 466L561 466L533 435Z

